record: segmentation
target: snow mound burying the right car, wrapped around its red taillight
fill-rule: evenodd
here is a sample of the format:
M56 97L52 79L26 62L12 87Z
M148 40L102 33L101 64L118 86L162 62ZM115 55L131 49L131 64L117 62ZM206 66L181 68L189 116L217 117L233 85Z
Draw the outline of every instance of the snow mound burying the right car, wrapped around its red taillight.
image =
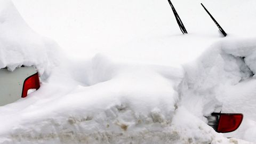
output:
M243 113L244 121L232 137L255 142L246 134L254 133L251 127L256 120L255 50L255 38L227 38L214 43L200 58L184 66L181 105L205 122L204 116L213 111Z

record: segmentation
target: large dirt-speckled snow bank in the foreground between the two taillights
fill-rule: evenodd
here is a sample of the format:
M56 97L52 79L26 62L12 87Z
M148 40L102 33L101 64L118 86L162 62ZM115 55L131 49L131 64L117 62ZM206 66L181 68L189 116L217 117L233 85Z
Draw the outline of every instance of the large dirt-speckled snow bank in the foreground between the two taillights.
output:
M102 55L82 63L62 65L66 72L55 69L31 97L0 108L6 123L0 142L238 142L179 106L182 69L114 63Z

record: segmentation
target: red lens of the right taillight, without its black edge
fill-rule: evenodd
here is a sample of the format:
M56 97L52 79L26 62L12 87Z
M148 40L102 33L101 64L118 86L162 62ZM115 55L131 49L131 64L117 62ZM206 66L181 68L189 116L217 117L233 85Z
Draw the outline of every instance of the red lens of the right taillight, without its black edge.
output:
M243 121L243 114L220 114L217 132L235 131Z

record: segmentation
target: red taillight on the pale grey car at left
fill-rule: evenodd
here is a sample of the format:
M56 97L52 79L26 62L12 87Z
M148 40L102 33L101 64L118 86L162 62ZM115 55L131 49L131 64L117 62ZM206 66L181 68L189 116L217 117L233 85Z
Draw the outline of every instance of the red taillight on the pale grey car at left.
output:
M22 90L22 98L27 97L28 90L30 89L36 89L38 90L40 87L40 81L39 81L39 76L38 73L31 75L27 79L25 79L23 83L23 90Z

